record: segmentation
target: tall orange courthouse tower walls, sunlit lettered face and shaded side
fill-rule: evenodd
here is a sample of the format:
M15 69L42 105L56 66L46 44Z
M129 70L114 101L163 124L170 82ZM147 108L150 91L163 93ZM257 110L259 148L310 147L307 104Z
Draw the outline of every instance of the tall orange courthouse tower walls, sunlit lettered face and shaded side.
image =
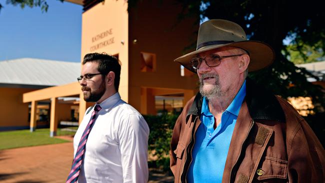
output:
M127 5L123 0L105 0L82 13L81 60L89 52L118 54L119 93L140 112L148 111L148 105L141 105L150 101L141 96L141 88L196 90L196 74L181 76L173 59L192 51L184 48L195 44L197 18L177 22L181 6L174 0L141 0L129 12ZM141 52L155 54L154 72L140 71ZM141 98L146 98L142 104Z

